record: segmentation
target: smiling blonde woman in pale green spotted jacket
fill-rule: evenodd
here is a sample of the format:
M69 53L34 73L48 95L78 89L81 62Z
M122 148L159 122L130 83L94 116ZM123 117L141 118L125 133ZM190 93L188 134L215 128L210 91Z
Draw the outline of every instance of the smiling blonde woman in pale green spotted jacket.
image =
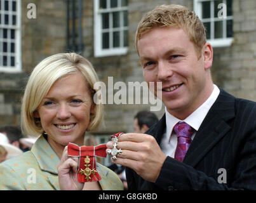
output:
M118 176L98 163L102 179L78 183L78 158L68 157L65 148L69 142L84 145L86 131L102 121L103 106L93 102L97 81L91 63L76 53L50 56L35 67L25 88L21 119L25 134L41 136L30 151L0 164L1 190L123 189Z

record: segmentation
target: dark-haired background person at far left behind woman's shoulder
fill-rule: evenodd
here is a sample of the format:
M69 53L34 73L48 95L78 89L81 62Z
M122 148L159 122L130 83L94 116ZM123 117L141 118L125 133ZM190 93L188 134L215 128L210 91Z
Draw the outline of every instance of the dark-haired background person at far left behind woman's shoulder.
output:
M26 151L20 143L20 139L24 136L19 126L3 126L0 128L0 133L3 133L8 137L11 145L20 148L22 151Z

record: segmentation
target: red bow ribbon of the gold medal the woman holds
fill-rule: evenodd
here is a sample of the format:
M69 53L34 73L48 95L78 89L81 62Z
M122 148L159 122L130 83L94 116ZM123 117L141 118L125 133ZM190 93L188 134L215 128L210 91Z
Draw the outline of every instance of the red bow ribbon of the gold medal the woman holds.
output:
M81 169L85 169L85 162L84 162L84 158L86 156L90 157L90 169L96 170L96 156L97 157L106 157L107 153L106 153L106 145L105 144L101 144L101 145L97 145L97 146L81 146L79 147L78 145L74 144L74 143L69 143L67 145L67 155L70 157L79 157L79 171L81 171ZM100 174L98 174L98 172L95 172L94 174L91 173L90 174L90 180L88 181L98 181L101 180ZM77 172L77 181L79 181L80 183L85 183L87 182L86 180L86 176L84 174L78 173Z

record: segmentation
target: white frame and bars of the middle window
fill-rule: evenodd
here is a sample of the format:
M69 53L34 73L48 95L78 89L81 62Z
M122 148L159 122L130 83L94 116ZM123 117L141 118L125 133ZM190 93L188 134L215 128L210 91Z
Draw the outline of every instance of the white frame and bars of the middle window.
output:
M107 8L104 10L100 10L100 0L94 0L94 56L95 57L102 57L102 56L115 56L115 55L126 55L128 52L128 46L126 47L119 47L119 48L108 48L108 49L102 49L102 13L112 13L115 11L128 11L128 6L118 7L118 8L109 8L110 0L107 1ZM118 4L121 3L121 0L118 0ZM121 25L118 27L118 30L121 28L121 30L128 30L128 26L123 26L123 12L121 12ZM112 15L110 15L110 18ZM110 23L112 23L112 19L109 20ZM112 25L109 25L109 44L112 44L112 33L113 33ZM120 38L123 41L123 32L120 32ZM123 41L124 43L124 41Z

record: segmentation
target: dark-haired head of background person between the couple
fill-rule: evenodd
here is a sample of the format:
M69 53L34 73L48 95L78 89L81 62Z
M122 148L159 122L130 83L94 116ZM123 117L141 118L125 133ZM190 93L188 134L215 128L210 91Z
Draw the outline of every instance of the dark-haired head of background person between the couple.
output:
M158 122L156 114L148 110L142 110L135 115L133 128L135 133L145 133L156 122Z

